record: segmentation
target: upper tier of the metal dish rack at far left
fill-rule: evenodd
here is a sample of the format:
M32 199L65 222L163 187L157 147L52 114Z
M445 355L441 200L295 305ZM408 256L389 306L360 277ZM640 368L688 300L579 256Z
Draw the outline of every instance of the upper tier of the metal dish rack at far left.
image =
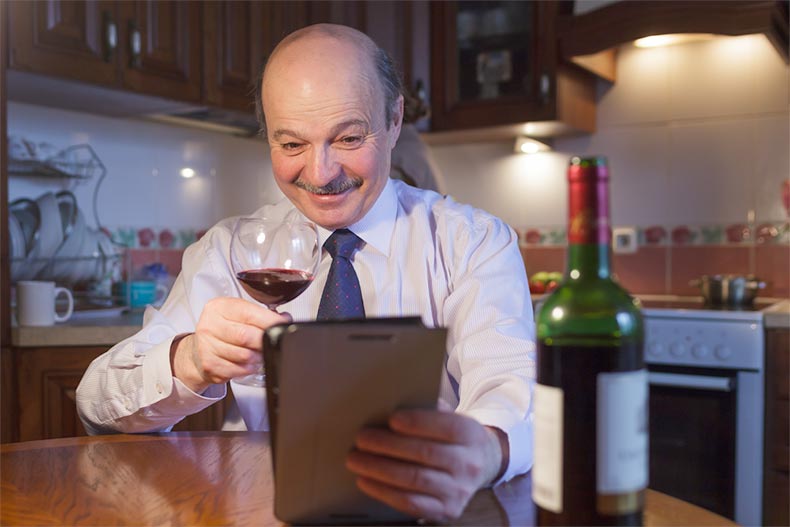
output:
M8 159L12 176L91 179L103 177L107 169L87 144L69 146L47 159Z

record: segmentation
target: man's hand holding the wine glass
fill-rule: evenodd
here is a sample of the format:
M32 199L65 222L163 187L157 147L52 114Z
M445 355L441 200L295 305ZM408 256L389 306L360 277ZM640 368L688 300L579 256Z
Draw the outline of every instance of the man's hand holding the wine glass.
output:
M201 393L212 384L256 373L262 363L264 330L290 321L288 314L241 298L210 300L195 332L171 350L173 375Z

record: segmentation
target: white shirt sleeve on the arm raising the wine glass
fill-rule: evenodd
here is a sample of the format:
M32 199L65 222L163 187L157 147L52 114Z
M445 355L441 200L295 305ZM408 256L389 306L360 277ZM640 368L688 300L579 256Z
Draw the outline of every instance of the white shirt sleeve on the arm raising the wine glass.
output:
M237 296L221 256L229 241L226 231L215 227L188 248L164 305L148 307L138 333L90 364L76 394L77 412L89 434L169 431L225 397L225 384L198 394L176 379L170 345L177 335L194 331L209 299Z

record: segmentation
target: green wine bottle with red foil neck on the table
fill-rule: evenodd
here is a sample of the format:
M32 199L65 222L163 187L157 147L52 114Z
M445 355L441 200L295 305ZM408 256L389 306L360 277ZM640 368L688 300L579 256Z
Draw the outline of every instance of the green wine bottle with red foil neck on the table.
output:
M610 273L606 158L568 168L568 253L537 316L538 525L641 525L648 386L639 304Z

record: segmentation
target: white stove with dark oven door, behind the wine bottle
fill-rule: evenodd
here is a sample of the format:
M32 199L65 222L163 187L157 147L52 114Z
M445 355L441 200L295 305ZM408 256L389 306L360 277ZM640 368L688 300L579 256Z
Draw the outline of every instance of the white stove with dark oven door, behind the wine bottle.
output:
M650 487L742 525L762 520L764 307L642 301Z

